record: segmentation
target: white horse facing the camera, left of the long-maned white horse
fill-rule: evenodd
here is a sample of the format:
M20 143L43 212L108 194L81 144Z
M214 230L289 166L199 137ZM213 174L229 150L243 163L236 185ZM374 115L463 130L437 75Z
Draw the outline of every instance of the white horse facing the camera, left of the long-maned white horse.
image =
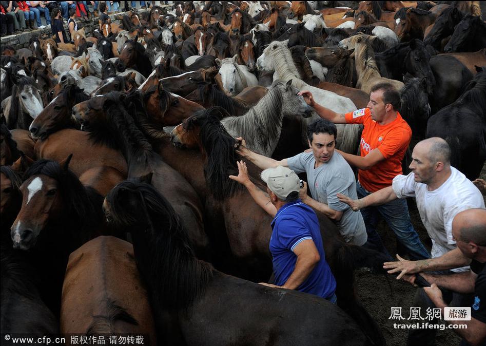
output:
M219 74L223 88L235 96L244 88L258 85L258 79L255 74L248 71L246 65L238 65L238 55L225 57L223 60L216 59L219 66Z

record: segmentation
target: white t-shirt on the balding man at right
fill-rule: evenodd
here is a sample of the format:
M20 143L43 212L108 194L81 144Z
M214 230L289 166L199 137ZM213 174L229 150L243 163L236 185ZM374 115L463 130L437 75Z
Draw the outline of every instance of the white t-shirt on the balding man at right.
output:
M452 239L452 220L466 209L483 208L484 200L479 189L456 168L451 167L451 176L434 191L427 185L417 183L414 173L399 175L393 179L392 188L398 198L415 197L425 229L432 239L432 258L442 256L456 247ZM464 272L469 266L456 268Z

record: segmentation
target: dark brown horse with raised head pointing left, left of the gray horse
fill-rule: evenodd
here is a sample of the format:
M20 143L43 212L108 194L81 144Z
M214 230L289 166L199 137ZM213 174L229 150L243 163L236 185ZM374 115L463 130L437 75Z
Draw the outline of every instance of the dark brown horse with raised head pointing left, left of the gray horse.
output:
M145 112L142 95L133 92L128 97L119 93L98 96L75 105L73 117L91 131L94 139L121 148L129 178L153 174L152 184L183 216L191 230L193 248L206 258L208 239L204 233L201 201L189 183L153 151L145 138L142 128L150 116Z

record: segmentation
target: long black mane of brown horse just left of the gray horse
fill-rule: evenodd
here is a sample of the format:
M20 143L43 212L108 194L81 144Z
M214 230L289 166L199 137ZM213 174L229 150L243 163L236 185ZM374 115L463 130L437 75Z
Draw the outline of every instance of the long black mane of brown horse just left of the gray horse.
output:
M197 119L200 124L199 138L207 161L204 165L206 183L217 200L233 196L242 189L241 184L228 179L229 175L238 175L236 162L240 159L232 138L220 120L229 117L221 107L210 107L194 113L189 119ZM190 123L190 120L188 121Z

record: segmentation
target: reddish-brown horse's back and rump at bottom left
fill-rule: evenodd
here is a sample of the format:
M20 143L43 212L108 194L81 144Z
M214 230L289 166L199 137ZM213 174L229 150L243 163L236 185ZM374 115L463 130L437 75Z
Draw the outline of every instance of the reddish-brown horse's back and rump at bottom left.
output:
M69 256L60 322L61 333L144 335L144 344L157 344L130 243L100 236Z

